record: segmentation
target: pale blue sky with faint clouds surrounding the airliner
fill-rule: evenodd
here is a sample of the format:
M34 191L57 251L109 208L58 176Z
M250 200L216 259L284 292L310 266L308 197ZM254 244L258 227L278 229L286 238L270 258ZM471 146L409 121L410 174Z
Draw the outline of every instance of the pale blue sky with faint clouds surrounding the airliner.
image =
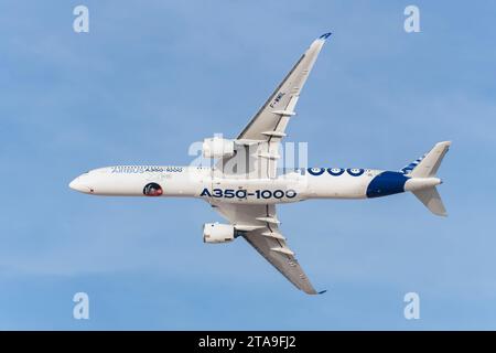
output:
M90 32L73 32L89 8ZM496 329L496 4L416 1L2 1L0 329ZM317 35L333 31L290 141L312 165L399 169L436 141L450 216L412 195L279 208L324 296L245 242L207 246L198 200L71 191L120 163L187 164L235 137ZM489 180L489 182L487 182ZM72 317L85 291L90 319ZM421 319L403 318L416 291Z

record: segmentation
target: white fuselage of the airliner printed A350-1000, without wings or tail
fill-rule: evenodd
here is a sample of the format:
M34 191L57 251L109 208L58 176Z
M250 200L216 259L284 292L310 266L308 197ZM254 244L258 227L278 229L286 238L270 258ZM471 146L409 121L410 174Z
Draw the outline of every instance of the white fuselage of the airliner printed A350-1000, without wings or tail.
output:
M299 169L276 179L234 179L214 176L213 169L204 167L117 165L84 173L71 183L71 188L95 195L180 196L276 204L308 199L370 197L367 195L370 182L381 173L369 169L313 168Z

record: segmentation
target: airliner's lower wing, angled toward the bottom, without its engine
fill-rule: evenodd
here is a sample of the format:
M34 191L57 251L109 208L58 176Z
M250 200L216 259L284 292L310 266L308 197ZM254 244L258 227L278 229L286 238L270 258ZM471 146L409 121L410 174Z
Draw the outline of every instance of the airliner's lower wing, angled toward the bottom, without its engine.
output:
M212 203L240 235L298 289L317 295L279 231L274 205Z

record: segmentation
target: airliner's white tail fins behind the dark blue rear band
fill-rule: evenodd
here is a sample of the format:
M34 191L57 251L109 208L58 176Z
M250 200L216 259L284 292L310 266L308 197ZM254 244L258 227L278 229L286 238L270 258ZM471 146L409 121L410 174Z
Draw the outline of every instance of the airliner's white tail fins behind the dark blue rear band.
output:
M435 146L425 153L422 158L419 158L414 162L408 164L403 169L403 173L406 173L411 179L416 179L416 181L425 182L425 189L412 190L413 195L422 202L425 207L428 207L433 214L440 216L446 216L446 208L443 205L441 196L438 190L434 186L428 186L428 178L435 176L435 173L443 161L444 156L450 149L451 141L438 142ZM441 183L439 179L438 183ZM434 181L435 182L435 181Z

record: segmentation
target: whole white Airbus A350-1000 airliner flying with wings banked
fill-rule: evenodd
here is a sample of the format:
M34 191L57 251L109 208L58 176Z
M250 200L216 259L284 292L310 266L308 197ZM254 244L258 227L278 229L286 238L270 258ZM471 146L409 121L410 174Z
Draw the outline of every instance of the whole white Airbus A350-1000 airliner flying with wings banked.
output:
M276 205L309 199L368 199L412 192L431 212L445 215L435 189L450 142L439 142L401 170L302 168L278 173L279 147L310 71L331 33L321 35L291 68L236 139L203 142L212 167L118 165L91 170L69 186L87 194L181 196L208 202L228 224L207 223L205 243L244 237L296 288L316 295L280 229Z

